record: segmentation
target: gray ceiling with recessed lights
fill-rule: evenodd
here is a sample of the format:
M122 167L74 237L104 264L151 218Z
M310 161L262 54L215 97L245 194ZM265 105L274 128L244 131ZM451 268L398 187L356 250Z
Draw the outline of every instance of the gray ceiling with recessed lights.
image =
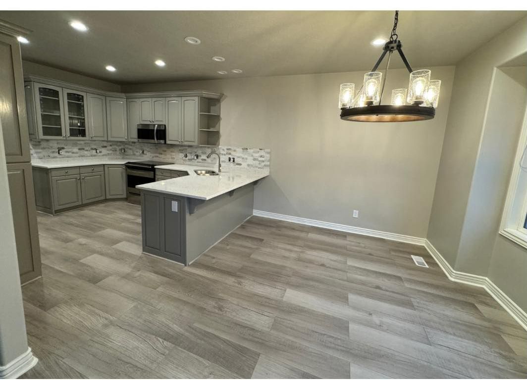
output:
M454 65L525 15L401 11L397 32L413 67ZM0 19L33 31L23 59L129 84L368 70L381 53L370 42L389 36L393 11L1 11ZM72 19L89 31L75 31ZM159 58L165 67L154 65ZM391 67L404 66L396 58Z

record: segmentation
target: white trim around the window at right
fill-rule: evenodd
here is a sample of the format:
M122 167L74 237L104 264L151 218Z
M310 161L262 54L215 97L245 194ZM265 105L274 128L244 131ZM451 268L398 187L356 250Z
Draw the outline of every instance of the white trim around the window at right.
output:
M522 159L524 150L527 150L527 110L523 116L522 131L514 157L511 178L509 180L509 187L507 196L505 198L505 205L503 207L503 214L500 223L500 235L512 240L512 242L527 248L527 229L523 227L525 218L527 217L527 190L525 195L518 195L520 175L522 169L520 167L520 160ZM527 173L525 174L527 177ZM514 205L520 205L520 212L514 211Z

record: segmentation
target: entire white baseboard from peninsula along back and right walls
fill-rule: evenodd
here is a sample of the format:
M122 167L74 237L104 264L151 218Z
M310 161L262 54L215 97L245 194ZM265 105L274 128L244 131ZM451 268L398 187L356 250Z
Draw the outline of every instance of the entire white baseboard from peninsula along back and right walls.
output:
M510 299L503 291L498 288L488 277L473 275L470 273L458 272L454 270L450 264L444 259L437 249L427 240L422 237L394 234L391 232L377 231L375 229L360 228L354 226L347 226L344 224L336 224L329 222L321 222L320 220L306 219L303 217L275 214L274 212L260 211L255 209L252 211L255 216L267 217L270 219L284 220L285 222L304 224L308 226L334 229L342 232L349 232L353 234L379 237L387 240L395 240L396 242L422 245L426 248L428 253L434 258L437 264L443 269L445 275L457 283L469 284L485 288L492 298L499 303L518 323L527 330L527 313L523 311L513 300Z

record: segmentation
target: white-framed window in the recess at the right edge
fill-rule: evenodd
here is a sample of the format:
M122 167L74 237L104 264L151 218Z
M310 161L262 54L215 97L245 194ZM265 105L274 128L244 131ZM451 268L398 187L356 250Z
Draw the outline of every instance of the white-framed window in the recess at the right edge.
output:
M500 234L527 248L527 114L514 158Z

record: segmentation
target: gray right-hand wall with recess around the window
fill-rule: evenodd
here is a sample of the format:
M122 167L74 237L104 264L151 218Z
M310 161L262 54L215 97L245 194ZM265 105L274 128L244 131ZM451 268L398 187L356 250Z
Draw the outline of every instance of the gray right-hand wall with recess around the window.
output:
M527 250L497 233L525 110L524 75L496 67L526 51L523 18L456 65L427 236L454 269L488 276L524 310Z

